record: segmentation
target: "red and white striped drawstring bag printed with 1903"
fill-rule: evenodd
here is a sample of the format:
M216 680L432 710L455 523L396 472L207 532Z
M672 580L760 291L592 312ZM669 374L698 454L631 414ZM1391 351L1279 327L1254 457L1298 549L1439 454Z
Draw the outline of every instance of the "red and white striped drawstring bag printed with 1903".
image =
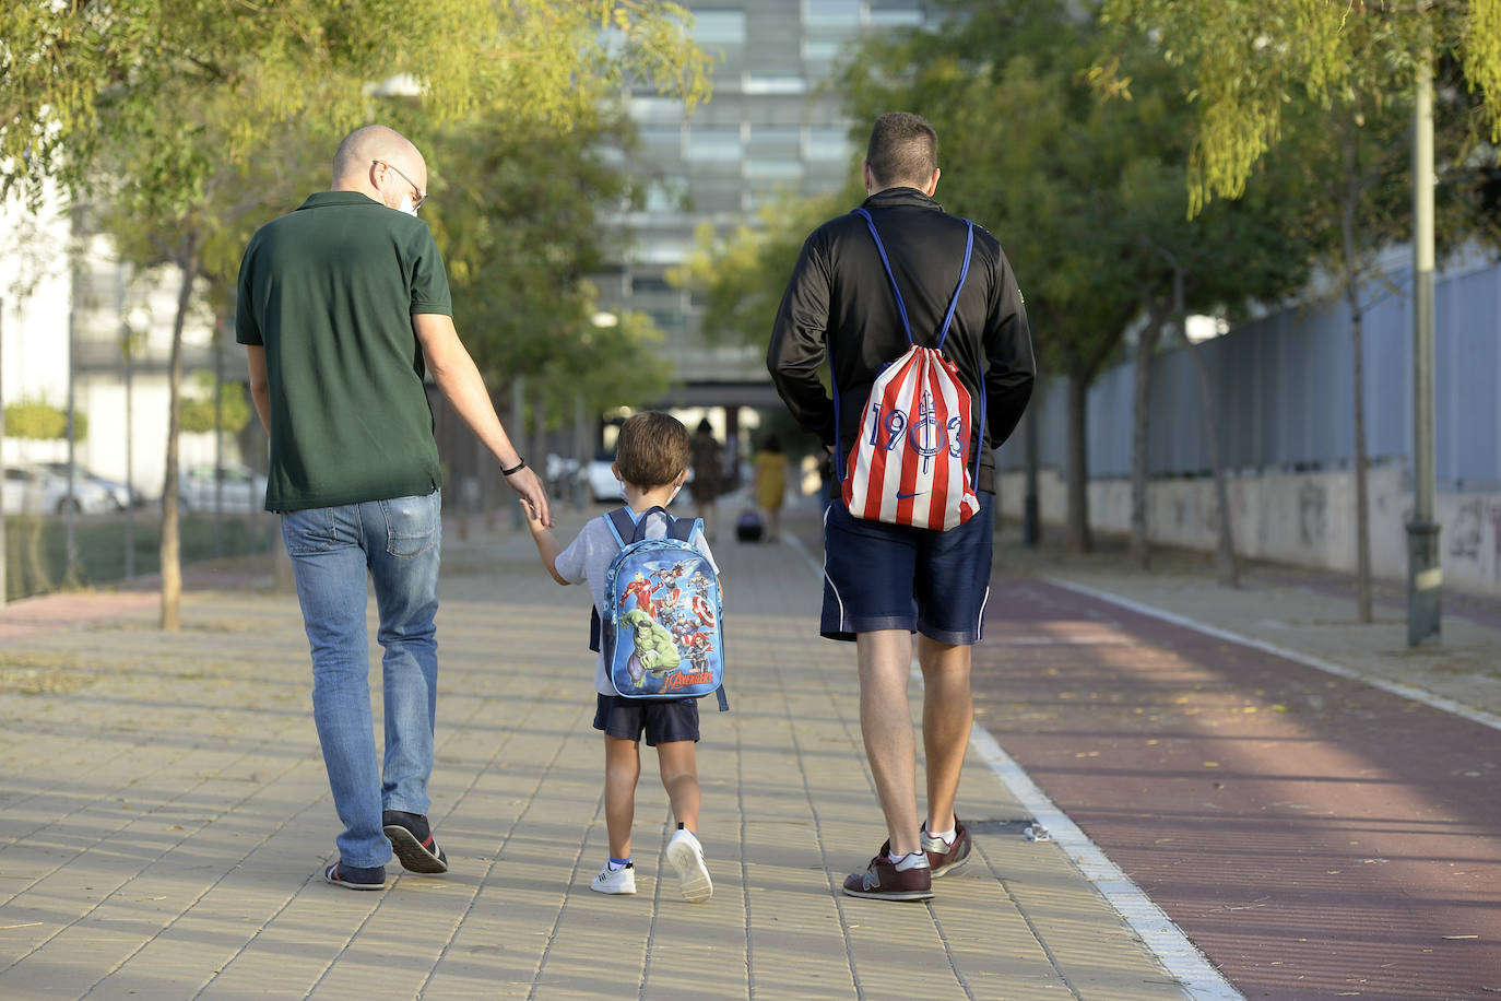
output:
M856 209L871 227L892 279L896 311L911 344L892 362L875 384L860 417L860 437L845 462L844 503L856 518L946 531L962 525L980 510L974 480L980 473L979 449L970 471L970 390L959 381L959 368L943 357L941 348L953 323L959 291L970 273L974 224L965 219L964 266L949 300L938 344L925 348L913 341L902 291L892 275L881 234L865 209ZM980 426L985 426L985 393L980 393Z

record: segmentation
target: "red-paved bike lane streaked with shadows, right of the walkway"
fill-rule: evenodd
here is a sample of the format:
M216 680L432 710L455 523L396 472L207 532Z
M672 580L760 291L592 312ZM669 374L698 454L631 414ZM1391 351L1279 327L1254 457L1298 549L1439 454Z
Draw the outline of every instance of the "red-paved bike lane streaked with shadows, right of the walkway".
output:
M974 689L1247 998L1501 996L1501 731L1034 579Z

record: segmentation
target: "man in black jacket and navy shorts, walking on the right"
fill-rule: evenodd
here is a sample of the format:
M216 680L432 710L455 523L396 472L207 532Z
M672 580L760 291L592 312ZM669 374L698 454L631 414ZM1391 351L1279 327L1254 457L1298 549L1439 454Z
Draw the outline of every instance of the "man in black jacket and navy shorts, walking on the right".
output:
M905 302L916 344L935 345L959 285L965 222L932 200L938 137L922 117L877 119L862 167L887 278L866 221L845 215L818 227L793 269L772 330L767 368L788 410L833 452L848 474L871 386L908 348L892 291ZM974 228L968 276L943 342L971 396L974 483L980 510L947 531L854 518L836 498L824 515L824 609L820 632L854 639L860 729L889 840L844 891L892 900L932 897L932 878L968 860L970 836L955 816L974 704L970 647L980 638L991 579L992 501L1000 446L1031 396L1034 363L1022 296L1000 243ZM829 359L835 398L818 368ZM838 486L838 485L836 485ZM907 704L911 633L923 671L928 816L919 827L916 741Z

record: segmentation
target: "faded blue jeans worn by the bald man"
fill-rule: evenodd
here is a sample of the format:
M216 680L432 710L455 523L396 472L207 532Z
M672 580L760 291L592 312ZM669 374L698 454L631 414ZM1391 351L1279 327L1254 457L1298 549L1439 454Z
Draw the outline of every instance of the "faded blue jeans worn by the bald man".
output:
M282 540L312 647L312 717L345 866L383 866L390 842L381 810L426 813L438 696L441 494L282 513ZM371 719L366 572L386 648L386 759L375 761Z

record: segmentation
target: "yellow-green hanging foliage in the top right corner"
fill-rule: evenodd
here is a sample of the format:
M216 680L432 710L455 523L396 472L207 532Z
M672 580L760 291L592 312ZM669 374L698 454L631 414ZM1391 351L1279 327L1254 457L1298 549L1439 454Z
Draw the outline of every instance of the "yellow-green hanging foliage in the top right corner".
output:
M1189 210L1238 198L1280 138L1289 108L1379 105L1412 90L1418 59L1451 57L1477 96L1471 123L1501 143L1501 0L1418 6L1357 0L1105 0L1121 38L1148 35L1184 71L1196 110ZM1105 54L1093 81L1129 95L1132 78ZM1481 129L1472 131L1478 140ZM1472 144L1472 143L1471 143Z

